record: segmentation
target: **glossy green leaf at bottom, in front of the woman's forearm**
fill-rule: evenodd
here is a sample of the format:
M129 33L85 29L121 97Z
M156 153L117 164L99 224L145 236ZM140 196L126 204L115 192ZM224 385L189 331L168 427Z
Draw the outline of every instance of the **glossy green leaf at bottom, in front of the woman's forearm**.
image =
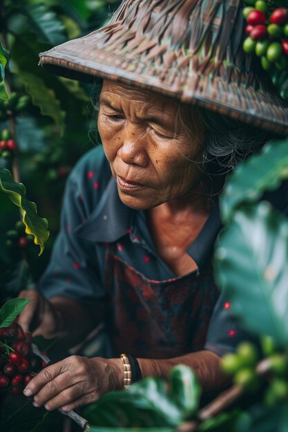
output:
M195 413L199 397L199 384L193 371L180 365L171 371L168 388L166 382L158 377L145 378L127 391L114 391L102 396L99 402L85 409L84 417L96 429L102 426L133 427L133 430L170 428Z

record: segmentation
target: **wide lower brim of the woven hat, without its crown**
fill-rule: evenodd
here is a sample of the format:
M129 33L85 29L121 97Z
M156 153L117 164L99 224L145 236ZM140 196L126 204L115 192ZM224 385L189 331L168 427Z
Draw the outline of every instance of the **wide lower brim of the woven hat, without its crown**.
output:
M80 81L93 82L100 77L151 89L277 135L288 135L288 104L273 90L254 90L200 72L184 77L181 70L157 69L151 61L136 61L117 50L97 46L95 33L41 52L39 64L56 75ZM91 38L92 51L85 49Z

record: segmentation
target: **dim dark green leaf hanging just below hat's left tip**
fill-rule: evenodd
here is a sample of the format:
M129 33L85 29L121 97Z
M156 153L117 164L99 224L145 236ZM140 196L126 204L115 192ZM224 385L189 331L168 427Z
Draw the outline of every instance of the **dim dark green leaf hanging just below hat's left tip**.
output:
M19 72L19 77L23 79L26 91L32 98L32 103L40 108L41 114L48 115L55 121L61 135L63 135L66 113L61 110L55 92L47 88L41 78L29 72Z

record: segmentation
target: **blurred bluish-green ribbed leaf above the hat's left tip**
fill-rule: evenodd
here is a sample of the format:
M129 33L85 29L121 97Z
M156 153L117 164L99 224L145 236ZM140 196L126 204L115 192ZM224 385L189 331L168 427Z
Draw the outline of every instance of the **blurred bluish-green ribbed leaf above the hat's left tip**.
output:
M21 11L27 15L32 30L37 32L40 41L48 41L52 45L66 41L64 26L55 12L44 3L23 6Z

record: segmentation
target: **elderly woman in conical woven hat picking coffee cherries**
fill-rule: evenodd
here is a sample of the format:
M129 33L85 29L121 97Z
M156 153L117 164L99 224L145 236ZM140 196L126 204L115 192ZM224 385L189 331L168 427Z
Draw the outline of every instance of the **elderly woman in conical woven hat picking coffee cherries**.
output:
M220 356L247 335L213 281L218 194L238 160L288 132L285 101L242 52L241 8L125 0L108 26L41 54L56 74L102 79L103 147L68 179L50 265L39 291L21 293L32 301L19 322L71 346L104 322L114 354L48 366L24 390L36 406L75 409L180 363L205 391L225 385Z

